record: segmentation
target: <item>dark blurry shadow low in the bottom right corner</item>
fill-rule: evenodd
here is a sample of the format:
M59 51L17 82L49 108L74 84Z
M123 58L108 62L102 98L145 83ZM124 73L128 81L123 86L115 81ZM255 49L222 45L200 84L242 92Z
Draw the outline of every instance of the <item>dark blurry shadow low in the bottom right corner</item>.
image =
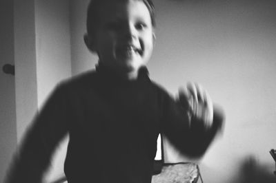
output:
M273 174L275 170L267 169L266 164L259 164L253 156L246 158L241 163L239 175L233 182L239 183L275 183L276 175Z

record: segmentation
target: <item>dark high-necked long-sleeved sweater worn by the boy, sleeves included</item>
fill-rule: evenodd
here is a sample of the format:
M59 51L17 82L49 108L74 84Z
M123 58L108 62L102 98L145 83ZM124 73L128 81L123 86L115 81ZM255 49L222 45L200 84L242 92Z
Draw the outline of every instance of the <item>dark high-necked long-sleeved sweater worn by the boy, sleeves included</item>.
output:
M190 122L145 68L137 80L124 80L97 67L52 92L28 130L9 183L40 182L66 133L70 140L64 171L69 183L150 183L159 133L187 155L200 156L220 122L210 131Z

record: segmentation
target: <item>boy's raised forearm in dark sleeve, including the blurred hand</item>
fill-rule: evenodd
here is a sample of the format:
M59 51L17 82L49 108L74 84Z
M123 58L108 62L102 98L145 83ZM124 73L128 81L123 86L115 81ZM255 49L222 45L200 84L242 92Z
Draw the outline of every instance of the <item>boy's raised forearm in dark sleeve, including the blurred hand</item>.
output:
M213 107L206 91L192 84L179 92L177 101L167 100L164 114L163 133L192 158L204 155L224 120L222 110Z

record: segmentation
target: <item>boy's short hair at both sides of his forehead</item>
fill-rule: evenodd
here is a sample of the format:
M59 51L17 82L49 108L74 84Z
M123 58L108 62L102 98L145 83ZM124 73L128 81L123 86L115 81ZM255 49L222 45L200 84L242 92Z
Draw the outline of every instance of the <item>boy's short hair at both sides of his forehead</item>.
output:
M110 0L110 1L129 1L129 0ZM152 26L155 27L155 7L152 3L152 0L135 0L135 1L143 1L150 12L150 18L152 22ZM87 19L86 19L86 28L87 33L90 35L95 34L95 30L99 25L99 21L101 17L99 17L99 12L101 11L101 6L106 6L108 4L107 0L90 0L87 11Z

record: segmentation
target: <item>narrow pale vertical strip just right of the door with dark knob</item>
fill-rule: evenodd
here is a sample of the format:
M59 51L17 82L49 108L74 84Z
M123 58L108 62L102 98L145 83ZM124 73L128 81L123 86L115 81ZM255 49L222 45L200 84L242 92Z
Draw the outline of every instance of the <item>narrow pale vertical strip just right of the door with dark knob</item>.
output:
M14 65L17 142L37 111L34 0L14 0Z

